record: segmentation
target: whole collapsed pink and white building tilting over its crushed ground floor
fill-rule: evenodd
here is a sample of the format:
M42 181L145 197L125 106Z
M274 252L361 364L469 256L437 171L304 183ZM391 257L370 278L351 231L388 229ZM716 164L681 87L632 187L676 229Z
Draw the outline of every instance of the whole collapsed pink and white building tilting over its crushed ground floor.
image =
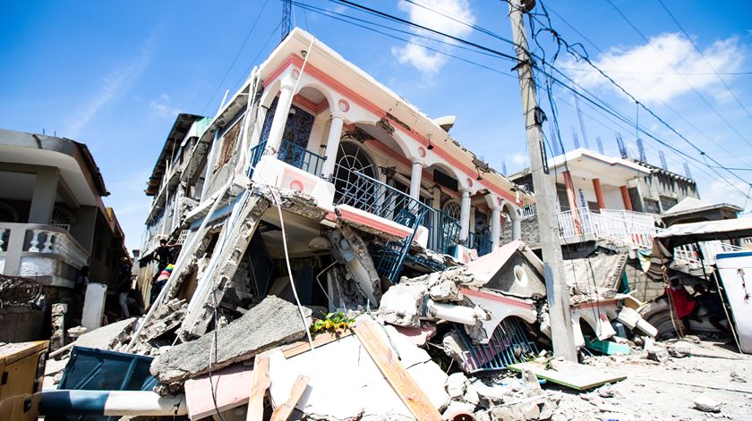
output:
M186 335L206 332L214 299L230 319L293 290L308 306L376 307L402 275L499 248L532 197L453 123L296 29L216 117L177 117L146 190L144 298L162 239L179 248L167 298L188 299Z

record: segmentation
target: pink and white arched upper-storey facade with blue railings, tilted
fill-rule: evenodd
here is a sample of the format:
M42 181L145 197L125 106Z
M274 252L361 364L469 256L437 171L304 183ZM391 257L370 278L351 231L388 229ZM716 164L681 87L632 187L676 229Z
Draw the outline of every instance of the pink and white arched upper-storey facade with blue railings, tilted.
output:
M258 101L250 112L248 97ZM499 247L503 223L518 226L532 197L452 139L453 122L432 120L295 29L219 110L206 134L215 135L209 167L232 126L241 125L235 143L252 181L311 195L330 222L344 218L400 237L412 230L395 223L395 209L386 215L370 200L404 194L430 208L419 244L442 253L461 244L483 254ZM205 171L203 199L217 184L212 177ZM372 190L381 192L370 198Z

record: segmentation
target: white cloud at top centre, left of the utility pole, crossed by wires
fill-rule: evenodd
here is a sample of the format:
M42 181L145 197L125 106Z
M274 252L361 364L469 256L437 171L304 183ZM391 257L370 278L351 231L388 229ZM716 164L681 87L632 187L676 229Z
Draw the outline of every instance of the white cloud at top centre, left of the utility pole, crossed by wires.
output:
M475 16L473 11L470 10L468 0L433 0L430 4L417 3L407 3L403 0L397 6L407 13L409 21L426 28L435 29L455 37L464 37L472 31L469 26L462 23L473 24L475 22ZM423 4L424 7L419 4ZM428 34L423 29L415 30L415 32ZM443 52L449 52L451 49L450 46L432 42L425 38L411 37L410 40ZM446 55L410 43L392 47L391 53L400 64L411 65L427 76L439 72L441 67L447 63Z

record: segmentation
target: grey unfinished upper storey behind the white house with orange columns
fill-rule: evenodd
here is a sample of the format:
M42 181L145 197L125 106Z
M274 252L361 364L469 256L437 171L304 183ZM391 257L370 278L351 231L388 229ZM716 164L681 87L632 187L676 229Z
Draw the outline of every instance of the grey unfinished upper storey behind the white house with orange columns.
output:
M700 198L697 183L691 178L632 159L650 169L645 177L629 186L629 198L637 212L662 215L685 198Z

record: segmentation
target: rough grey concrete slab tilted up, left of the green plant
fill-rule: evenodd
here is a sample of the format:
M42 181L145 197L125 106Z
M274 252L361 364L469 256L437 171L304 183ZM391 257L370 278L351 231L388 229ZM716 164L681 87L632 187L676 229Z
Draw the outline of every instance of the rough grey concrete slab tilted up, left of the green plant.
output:
M216 363L211 368L244 361L305 335L307 326L294 304L269 296L226 327L217 330ZM185 379L209 372L209 352L213 352L214 333L184 342L159 356L150 371L161 383L182 383Z

